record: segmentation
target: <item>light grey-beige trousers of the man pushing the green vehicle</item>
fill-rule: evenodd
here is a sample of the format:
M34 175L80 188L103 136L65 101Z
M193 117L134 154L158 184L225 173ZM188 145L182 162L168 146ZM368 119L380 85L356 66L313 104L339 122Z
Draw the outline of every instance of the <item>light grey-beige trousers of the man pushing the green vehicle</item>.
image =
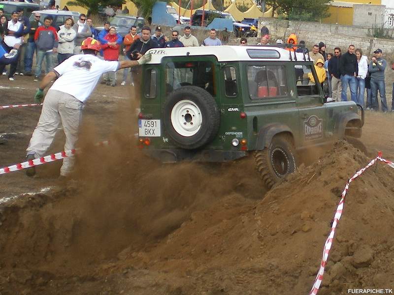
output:
M78 140L82 108L83 103L74 96L58 90L48 90L38 124L34 129L29 147L26 149L27 154L33 154L35 158L44 156L55 138L60 123L66 135L65 150L74 149ZM60 175L69 175L74 161L74 157L65 158Z

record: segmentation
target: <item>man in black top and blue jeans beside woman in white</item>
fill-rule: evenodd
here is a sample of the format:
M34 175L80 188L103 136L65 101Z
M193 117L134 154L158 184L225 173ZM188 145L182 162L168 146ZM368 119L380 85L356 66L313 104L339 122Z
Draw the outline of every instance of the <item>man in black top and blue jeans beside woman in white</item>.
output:
M350 97L352 101L357 102L357 82L356 77L359 75L359 63L354 54L354 45L349 45L348 51L339 59L339 72L341 74L341 100L347 101L348 85L350 88Z

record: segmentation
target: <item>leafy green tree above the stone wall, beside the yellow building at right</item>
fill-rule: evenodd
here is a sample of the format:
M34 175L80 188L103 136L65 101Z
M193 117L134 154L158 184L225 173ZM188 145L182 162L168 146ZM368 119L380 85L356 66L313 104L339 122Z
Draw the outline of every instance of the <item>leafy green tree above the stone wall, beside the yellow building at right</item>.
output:
M272 6L272 15L276 11L279 17L287 20L318 21L329 16L330 0L266 0Z

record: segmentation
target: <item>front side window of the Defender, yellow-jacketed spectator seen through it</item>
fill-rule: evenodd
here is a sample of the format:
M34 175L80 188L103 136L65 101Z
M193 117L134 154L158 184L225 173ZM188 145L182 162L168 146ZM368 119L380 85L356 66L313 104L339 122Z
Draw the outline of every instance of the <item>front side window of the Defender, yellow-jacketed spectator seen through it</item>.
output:
M319 87L315 83L312 66L300 64L294 66L298 97L320 94Z

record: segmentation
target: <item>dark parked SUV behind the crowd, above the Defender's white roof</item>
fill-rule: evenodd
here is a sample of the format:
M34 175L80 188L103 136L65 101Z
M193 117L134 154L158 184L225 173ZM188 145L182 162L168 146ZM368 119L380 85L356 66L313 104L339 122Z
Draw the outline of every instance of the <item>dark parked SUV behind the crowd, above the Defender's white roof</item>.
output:
M234 31L235 37L248 36L250 32L250 26L237 23L233 16L228 12L218 11L218 10L196 10L192 16L192 25L201 26L202 14L204 14L204 26L208 26L214 18L230 19L232 21L232 29ZM230 31L230 28L228 28Z

